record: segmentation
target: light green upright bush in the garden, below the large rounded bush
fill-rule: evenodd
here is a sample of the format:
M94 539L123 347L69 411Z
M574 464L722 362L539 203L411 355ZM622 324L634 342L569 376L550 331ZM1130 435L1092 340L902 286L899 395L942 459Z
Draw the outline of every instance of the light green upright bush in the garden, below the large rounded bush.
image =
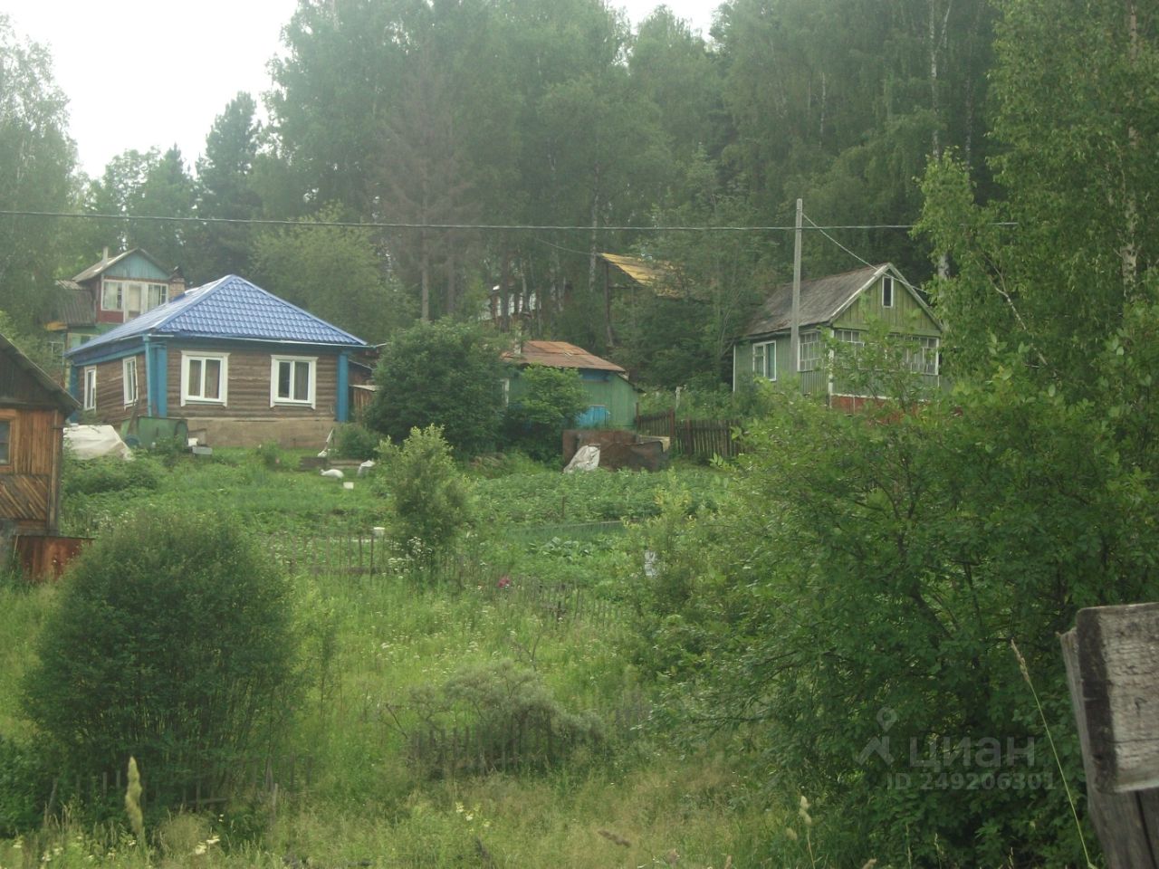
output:
M471 525L471 484L437 425L411 429L401 447L387 438L378 459L376 477L389 491L392 531L404 550L430 563Z

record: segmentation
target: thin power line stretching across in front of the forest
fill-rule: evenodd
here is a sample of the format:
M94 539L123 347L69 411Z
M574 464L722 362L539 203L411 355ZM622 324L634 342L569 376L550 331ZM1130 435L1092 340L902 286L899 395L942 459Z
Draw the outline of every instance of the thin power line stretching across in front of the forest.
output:
M411 224L386 222L378 220L343 221L343 220L275 220L269 218L209 218L209 217L161 217L159 214L85 214L66 211L12 211L0 210L0 217L30 218L71 218L81 220L153 220L175 224L231 224L249 226L293 226L298 228L329 227L340 229L475 229L480 232L697 232L697 233L774 233L794 232L793 226L566 226L566 225L530 225L530 224ZM807 229L824 233L826 229L913 229L913 224L847 224L839 226L818 226L812 224ZM1016 226L1015 222L998 222L993 226ZM830 236L832 241L832 236ZM836 242L834 242L836 243Z

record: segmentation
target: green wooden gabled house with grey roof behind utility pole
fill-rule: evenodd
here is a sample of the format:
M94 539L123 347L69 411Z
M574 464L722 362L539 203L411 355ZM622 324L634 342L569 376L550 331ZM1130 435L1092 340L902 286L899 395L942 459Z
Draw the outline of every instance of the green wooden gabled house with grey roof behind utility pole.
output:
M824 395L833 407L857 407L869 396L853 394L834 375L826 343L834 338L863 346L867 331L877 323L912 343L906 352L911 371L931 388L941 385L941 323L890 263L801 282L796 359L789 346L792 315L793 285L785 284L770 294L732 345L734 390L752 377L783 380L795 375L803 393Z

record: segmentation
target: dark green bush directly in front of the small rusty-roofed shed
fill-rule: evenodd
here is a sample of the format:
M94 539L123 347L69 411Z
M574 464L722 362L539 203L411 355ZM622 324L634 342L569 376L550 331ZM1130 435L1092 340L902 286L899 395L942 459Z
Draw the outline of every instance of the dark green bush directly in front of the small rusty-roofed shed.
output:
M541 461L556 458L563 430L588 408L580 372L529 365L518 377L523 390L504 414L504 446Z

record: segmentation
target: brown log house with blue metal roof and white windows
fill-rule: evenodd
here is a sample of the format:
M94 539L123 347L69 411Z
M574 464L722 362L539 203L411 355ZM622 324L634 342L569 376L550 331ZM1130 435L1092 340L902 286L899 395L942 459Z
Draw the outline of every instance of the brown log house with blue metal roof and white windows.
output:
M70 390L97 421L183 418L219 446L321 446L350 418L355 337L227 275L70 350Z

